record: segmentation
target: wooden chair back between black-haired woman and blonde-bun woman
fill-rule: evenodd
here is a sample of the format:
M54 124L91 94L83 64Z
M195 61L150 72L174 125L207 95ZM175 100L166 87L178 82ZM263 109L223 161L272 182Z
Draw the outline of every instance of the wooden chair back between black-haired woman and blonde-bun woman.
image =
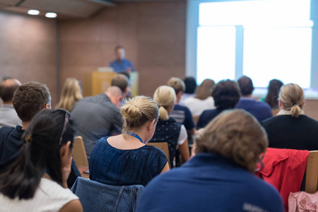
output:
M76 136L73 143L73 159L77 166L88 167L86 151L81 136Z

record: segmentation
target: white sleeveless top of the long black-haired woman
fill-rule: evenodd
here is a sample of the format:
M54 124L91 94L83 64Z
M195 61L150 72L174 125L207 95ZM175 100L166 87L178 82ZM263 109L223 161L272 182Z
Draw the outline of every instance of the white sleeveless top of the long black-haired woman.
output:
M0 194L1 212L57 212L65 204L78 199L70 189L64 189L50 179L42 178L39 187L35 191L33 199L10 199Z

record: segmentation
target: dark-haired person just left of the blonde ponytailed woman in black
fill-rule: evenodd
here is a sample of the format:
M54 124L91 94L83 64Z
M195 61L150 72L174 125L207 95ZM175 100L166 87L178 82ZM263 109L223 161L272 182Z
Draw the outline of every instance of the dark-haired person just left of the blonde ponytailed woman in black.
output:
M269 81L268 93L264 102L267 102L272 109L278 109L278 94L283 83L276 79Z

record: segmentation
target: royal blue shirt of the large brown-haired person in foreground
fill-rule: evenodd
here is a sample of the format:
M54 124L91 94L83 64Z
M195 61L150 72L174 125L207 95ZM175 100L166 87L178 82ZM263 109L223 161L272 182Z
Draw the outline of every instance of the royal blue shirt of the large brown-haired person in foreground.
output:
M232 160L200 153L151 180L137 211L283 212L283 202L274 187Z

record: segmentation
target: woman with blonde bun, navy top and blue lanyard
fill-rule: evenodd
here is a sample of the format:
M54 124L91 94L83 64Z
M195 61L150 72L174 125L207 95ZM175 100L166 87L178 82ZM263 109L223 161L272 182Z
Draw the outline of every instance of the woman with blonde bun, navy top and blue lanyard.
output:
M145 144L158 122L158 106L151 98L138 96L121 108L122 134L103 137L90 155L90 179L111 185L142 184L169 170L165 153Z

